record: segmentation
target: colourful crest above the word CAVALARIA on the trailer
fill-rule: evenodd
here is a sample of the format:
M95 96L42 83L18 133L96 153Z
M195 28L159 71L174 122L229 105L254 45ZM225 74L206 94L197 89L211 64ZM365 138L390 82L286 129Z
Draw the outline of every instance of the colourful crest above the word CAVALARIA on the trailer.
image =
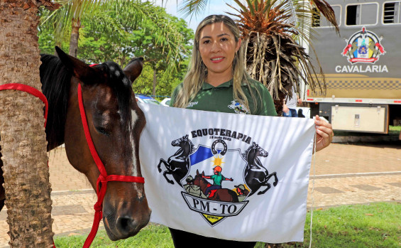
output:
M346 41L348 44L342 53L348 58L348 62L353 63L375 63L379 60L379 56L385 53L383 46L380 44L382 38L366 30L365 27L361 31L353 33L351 38Z

